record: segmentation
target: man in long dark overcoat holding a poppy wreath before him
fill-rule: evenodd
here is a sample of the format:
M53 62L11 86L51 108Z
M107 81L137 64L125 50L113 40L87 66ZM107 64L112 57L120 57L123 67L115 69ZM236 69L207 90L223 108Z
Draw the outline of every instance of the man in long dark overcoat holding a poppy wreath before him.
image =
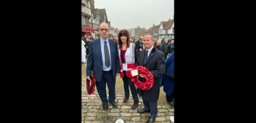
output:
M153 123L157 117L157 100L159 98L160 91L160 77L166 72L166 62L164 59L164 53L158 51L153 46L153 37L151 34L144 36L143 44L145 49L140 51L136 66L144 66L149 69L153 74L154 84L149 90L140 90L137 88L137 92L142 96L144 108L139 109L138 113L150 112L151 117L146 123ZM144 75L138 74L138 79L142 82L146 81Z

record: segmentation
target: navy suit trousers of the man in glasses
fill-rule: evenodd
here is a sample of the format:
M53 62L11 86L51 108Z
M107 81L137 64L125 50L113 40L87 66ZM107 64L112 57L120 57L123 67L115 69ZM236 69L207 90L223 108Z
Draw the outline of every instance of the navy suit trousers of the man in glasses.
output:
M107 99L107 92L106 92L106 83L109 90L108 99ZM107 72L103 71L101 81L96 81L97 91L99 93L99 97L101 98L101 102L103 102L103 104L107 104L108 101L113 102L116 99L115 86L116 86L116 79L114 79L113 77L112 70Z

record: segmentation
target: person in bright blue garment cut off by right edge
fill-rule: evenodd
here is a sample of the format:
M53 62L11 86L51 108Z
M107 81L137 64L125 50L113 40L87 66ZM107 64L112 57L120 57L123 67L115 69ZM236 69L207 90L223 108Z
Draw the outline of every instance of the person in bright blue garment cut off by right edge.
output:
M166 73L160 79L160 87L164 86L164 92L166 93L166 100L172 106L175 107L174 93L175 93L175 51L166 59Z

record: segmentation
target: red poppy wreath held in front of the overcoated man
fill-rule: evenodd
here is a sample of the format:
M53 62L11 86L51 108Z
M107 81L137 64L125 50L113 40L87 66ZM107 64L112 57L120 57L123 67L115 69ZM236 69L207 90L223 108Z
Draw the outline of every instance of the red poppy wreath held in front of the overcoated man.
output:
M136 85L136 87L140 88L140 90L149 90L151 89L151 87L154 85L154 78L153 78L153 74L145 67L143 66L137 66L134 67L132 70L138 70L138 74L143 74L146 81L145 82L141 82L138 79L138 75L131 77L131 81L134 83L134 85Z

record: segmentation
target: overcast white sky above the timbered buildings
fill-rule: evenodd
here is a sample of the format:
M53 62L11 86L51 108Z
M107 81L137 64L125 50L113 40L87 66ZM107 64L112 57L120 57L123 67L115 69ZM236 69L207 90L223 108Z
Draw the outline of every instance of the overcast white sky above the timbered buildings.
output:
M174 0L94 0L94 8L107 12L111 27L149 29L174 15Z

